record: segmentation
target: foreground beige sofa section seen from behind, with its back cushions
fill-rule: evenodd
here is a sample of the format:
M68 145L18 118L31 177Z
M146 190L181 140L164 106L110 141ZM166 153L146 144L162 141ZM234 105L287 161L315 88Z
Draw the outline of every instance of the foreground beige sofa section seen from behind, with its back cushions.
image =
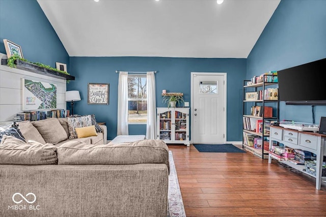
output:
M2 216L167 216L163 141L58 147L5 136L2 143Z

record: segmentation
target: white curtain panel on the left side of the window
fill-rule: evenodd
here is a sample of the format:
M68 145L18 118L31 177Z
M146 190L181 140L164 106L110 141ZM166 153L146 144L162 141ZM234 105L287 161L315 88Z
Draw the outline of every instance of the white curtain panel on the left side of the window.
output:
M128 72L119 72L117 135L128 135Z

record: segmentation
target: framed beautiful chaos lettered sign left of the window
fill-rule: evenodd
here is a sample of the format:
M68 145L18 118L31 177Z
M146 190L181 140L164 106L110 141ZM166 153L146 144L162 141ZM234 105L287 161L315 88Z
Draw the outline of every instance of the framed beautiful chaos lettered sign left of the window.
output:
M108 104L109 84L88 84L88 104Z

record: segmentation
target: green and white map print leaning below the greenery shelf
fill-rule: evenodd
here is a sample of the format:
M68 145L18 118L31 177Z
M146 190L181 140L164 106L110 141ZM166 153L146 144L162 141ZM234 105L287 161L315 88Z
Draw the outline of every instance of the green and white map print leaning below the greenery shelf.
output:
M22 110L57 108L57 85L22 78Z

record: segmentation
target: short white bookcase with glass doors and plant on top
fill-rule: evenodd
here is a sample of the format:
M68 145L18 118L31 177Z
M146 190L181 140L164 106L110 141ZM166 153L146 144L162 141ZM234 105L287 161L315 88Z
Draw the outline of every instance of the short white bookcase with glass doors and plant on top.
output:
M157 108L157 139L189 146L189 108Z

